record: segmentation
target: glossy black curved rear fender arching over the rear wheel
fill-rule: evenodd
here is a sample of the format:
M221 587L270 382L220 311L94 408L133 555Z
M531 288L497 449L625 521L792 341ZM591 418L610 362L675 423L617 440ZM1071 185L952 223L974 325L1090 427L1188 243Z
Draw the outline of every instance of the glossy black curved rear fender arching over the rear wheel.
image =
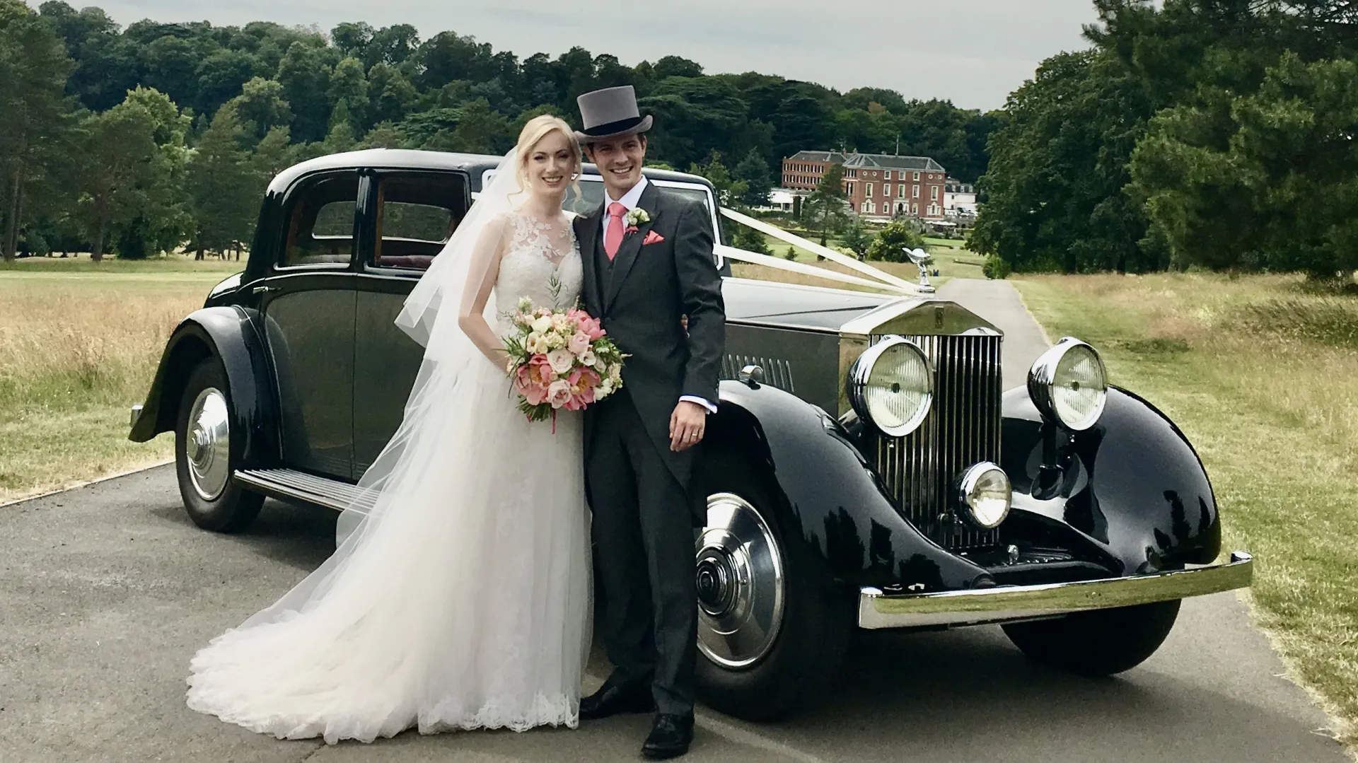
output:
M268 353L251 312L239 305L205 307L179 322L160 356L141 414L128 439L145 443L175 426L189 373L204 358L217 357L227 372L242 467L273 466L278 459L277 410L268 373Z

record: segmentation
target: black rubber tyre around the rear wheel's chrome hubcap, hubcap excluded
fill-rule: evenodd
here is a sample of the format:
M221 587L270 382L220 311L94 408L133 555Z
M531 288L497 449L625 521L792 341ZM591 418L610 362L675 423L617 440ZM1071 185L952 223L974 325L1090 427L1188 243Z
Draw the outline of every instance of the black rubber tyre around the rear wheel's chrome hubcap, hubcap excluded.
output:
M196 485L187 453L189 417L194 402L205 390L219 390L221 392L225 399L227 418L230 421L232 418L231 390L227 383L227 373L221 368L221 361L216 357L204 360L189 373L183 395L179 398L179 411L175 417L174 428L174 460L175 474L179 478L179 497L183 500L183 508L189 513L189 519L198 527L213 532L238 532L249 527L259 516L263 496L243 490L230 477L240 464L239 437L228 437L224 464L227 478L221 489L212 490L210 496L205 496ZM217 466L220 468L223 464Z

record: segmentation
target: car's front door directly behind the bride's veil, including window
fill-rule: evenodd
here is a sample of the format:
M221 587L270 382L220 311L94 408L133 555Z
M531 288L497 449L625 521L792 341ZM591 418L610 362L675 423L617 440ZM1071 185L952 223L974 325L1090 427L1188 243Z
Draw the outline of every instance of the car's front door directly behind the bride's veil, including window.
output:
M466 216L469 182L460 171L373 170L364 176L354 326L356 477L372 464L405 415L424 348L395 319Z

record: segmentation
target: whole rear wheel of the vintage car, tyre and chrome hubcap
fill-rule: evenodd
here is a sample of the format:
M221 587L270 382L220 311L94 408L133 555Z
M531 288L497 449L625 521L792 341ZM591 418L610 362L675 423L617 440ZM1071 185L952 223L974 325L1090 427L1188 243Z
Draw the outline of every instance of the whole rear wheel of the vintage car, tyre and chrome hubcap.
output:
M174 429L179 497L189 519L204 529L236 532L259 515L263 496L242 490L231 475L239 466L234 443L227 373L216 357L200 362L183 388Z

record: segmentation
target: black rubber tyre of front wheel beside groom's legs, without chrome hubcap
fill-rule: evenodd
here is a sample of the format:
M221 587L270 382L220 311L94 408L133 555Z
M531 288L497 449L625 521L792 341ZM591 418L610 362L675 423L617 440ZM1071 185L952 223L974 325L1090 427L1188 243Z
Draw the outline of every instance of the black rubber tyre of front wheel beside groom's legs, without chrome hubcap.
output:
M811 707L838 675L854 627L853 601L835 589L823 563L804 546L785 540L775 504L744 459L720 453L703 460L709 464L702 475L706 496L740 496L770 525L784 559L785 587L782 625L759 661L728 668L699 649L698 698L747 721L784 718Z

